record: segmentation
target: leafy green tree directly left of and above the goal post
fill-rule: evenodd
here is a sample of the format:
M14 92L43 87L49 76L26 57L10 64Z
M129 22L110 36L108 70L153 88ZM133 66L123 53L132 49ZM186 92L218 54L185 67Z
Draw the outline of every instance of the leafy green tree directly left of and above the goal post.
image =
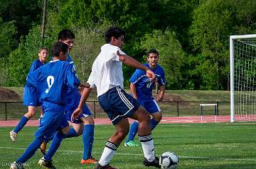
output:
M190 74L196 88L226 90L229 79L229 36L255 33L256 1L208 0L196 8L191 25ZM193 57L193 58L191 58Z

